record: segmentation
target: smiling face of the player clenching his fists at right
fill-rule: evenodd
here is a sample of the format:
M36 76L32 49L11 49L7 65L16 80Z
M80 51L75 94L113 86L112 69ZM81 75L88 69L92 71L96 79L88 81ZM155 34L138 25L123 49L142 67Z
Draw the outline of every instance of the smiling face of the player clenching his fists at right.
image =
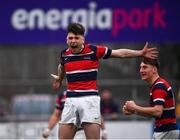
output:
M141 79L145 81L151 81L154 74L154 66L141 62L140 64L140 75Z

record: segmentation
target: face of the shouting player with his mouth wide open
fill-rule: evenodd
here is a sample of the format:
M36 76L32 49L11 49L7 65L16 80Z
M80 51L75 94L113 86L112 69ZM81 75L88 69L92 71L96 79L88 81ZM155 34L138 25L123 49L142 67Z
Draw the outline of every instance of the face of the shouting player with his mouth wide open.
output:
M67 44L70 49L81 48L84 44L84 37L82 35L75 35L73 33L68 33Z

